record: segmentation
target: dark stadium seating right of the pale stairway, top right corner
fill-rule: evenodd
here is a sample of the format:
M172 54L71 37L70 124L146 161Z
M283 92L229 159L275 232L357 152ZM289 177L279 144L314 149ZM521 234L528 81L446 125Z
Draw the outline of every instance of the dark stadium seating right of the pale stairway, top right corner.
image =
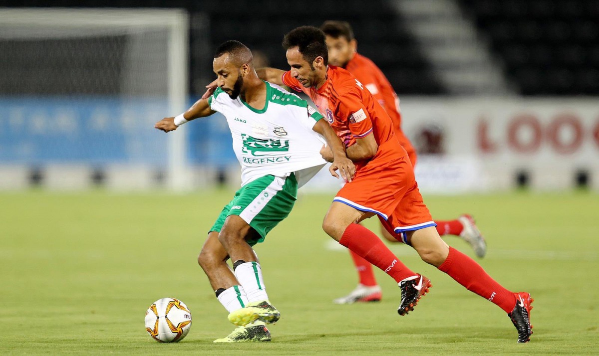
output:
M460 0L522 95L599 94L599 2Z

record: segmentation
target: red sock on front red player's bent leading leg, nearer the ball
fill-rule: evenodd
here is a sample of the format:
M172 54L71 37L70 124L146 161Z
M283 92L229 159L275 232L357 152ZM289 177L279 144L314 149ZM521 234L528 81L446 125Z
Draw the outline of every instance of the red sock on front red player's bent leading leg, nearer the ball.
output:
M357 255L374 264L374 266L384 270L398 283L416 275L405 264L401 263L399 258L395 257L393 252L380 241L379 236L374 235L364 226L349 224L339 243L356 252Z

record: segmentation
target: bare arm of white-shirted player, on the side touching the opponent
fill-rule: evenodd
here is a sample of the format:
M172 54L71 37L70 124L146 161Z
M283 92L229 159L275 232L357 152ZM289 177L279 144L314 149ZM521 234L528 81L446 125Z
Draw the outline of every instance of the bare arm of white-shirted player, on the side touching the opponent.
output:
M338 169L341 178L351 182L356 174L356 167L353 165L352 160L347 158L345 146L343 145L343 142L341 142L339 136L335 134L335 131L324 118L318 120L312 129L317 133L320 133L320 135L326 139L328 146L323 146L322 150L320 150L320 154L322 154L323 159L332 162L329 167L331 175L335 178L339 178L339 175L336 172Z

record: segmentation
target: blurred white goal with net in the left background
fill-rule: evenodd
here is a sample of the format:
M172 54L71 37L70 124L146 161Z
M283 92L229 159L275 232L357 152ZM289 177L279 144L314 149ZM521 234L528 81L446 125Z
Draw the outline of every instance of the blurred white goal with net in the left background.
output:
M12 125L0 168L101 167L115 185L189 188L185 132L153 129L187 108L188 31L179 9L0 10L0 123Z

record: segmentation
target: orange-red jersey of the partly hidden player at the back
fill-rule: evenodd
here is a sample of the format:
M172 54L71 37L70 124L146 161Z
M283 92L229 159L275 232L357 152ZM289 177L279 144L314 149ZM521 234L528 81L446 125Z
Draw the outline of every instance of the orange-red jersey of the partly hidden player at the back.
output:
M400 100L397 98L395 90L393 90L391 83L389 83L389 80L380 68L372 60L362 56L362 54L356 53L347 62L345 69L355 75L374 96L374 99L385 108L387 114L391 117L391 121L393 121L395 136L397 136L400 144L406 148L408 153L415 151L412 143L401 129Z

